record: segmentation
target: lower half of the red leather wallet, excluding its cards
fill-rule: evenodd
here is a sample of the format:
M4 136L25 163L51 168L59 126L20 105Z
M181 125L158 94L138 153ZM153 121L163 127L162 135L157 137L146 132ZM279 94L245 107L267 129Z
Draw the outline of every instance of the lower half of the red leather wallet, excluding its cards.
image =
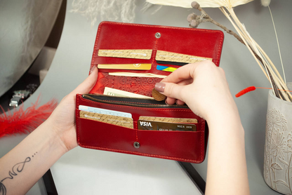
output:
M109 105L86 100L81 95L77 95L77 108L79 105L130 112L134 121L134 129L131 129L90 119L80 119L79 109L76 109L77 142L81 147L192 163L204 161L205 121L190 109ZM198 119L197 131L138 130L139 116ZM139 142L140 148L136 149L133 146L134 142Z

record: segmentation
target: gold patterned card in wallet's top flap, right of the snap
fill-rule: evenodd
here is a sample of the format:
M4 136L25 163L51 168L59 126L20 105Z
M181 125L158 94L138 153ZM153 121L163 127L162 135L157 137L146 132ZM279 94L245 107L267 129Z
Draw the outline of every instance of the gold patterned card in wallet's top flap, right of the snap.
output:
M168 51L157 51L155 60L166 62L183 62L183 63L195 63L204 60L211 60L212 58L203 58L194 55L185 55L181 53L173 53Z

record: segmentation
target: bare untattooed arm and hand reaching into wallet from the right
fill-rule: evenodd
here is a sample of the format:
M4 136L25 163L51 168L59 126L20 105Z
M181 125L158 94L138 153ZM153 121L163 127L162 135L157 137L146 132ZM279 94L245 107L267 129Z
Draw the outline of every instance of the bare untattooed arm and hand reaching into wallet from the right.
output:
M155 88L208 122L206 194L249 194L244 128L223 69L210 61L185 65Z

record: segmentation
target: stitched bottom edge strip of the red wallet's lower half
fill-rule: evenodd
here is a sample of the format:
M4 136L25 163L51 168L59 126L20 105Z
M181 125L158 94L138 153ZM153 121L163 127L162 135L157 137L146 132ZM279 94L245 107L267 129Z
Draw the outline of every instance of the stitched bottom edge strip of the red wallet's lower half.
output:
M192 160L192 159L182 159L182 158L178 158L178 157L171 157L171 156L163 156L163 155L157 155L157 154L146 154L146 153L141 153L141 152L131 152L128 150L122 150L122 149L111 149L111 148L107 148L107 147L93 147L93 146L86 146L84 144L80 144L79 146L81 147L86 147L86 148L92 148L92 149L102 149L102 150L107 150L107 151L112 151L112 152L122 152L122 153L126 153L126 154L138 154L141 156L152 156L152 157L159 157L159 158L163 158L163 159L171 159L171 160L183 160L183 161L190 161L193 163L200 163L201 161L196 161L196 160Z

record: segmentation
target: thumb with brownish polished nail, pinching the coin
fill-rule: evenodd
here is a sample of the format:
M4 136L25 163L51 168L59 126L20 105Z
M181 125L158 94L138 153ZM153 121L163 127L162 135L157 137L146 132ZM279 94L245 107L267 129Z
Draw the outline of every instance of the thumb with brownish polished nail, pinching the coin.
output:
M156 83L155 90L159 91L167 97L172 97L178 100L182 100L181 91L185 86L179 86L175 83Z

